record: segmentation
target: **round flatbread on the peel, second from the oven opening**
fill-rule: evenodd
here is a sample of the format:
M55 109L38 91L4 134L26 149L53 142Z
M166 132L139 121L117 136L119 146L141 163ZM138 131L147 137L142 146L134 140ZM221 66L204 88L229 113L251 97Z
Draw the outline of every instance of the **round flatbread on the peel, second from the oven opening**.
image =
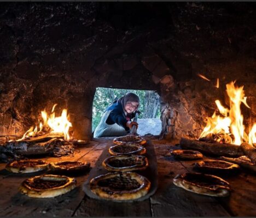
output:
M111 155L129 155L137 154L142 155L147 152L146 148L140 146L139 144L127 143L127 144L117 144L108 149Z

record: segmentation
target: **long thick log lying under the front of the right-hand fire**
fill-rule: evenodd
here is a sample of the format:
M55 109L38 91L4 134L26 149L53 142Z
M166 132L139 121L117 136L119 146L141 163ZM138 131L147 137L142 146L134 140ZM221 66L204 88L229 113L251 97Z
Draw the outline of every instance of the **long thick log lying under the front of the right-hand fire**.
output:
M188 138L181 138L179 143L183 149L199 150L200 152L207 154L223 156L243 155L240 146L236 146L235 144L208 143L199 140L190 140Z

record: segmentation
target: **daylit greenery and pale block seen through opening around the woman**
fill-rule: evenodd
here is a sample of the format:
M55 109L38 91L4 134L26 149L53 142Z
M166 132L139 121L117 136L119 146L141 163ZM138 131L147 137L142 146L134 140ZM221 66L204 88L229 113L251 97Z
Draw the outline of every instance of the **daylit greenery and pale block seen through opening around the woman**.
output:
M116 89L116 88L96 88L94 101L92 105L92 132L96 127L101 125L104 119L106 108L124 96L126 93L134 93L139 97L139 107L137 110L141 112L138 115L137 134L144 135L160 135L160 104L159 95L155 90L134 90L134 89ZM132 119L133 120L133 119ZM97 131L97 130L96 130ZM129 133L129 132L127 132ZM109 136L113 136L110 134ZM97 136L96 136L97 137ZM107 137L107 136L102 136Z

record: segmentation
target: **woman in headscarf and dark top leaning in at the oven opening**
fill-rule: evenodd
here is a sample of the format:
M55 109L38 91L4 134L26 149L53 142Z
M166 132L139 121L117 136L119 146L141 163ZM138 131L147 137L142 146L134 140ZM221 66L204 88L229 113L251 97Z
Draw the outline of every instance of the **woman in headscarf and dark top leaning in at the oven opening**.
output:
M126 93L114 101L104 111L101 122L94 131L94 137L124 136L130 132L132 125L138 128L138 123L131 121L138 107L139 97L134 93Z

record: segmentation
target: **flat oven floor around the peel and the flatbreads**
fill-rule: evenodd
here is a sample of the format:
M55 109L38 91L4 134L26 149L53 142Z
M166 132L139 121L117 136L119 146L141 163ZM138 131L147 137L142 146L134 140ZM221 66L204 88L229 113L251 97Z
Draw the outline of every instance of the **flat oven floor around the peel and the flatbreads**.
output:
M94 167L102 150L113 138L91 141L74 156L45 158L46 161L86 160ZM155 195L142 202L117 203L89 198L82 190L88 174L76 177L77 188L54 198L30 198L18 187L30 175L16 175L0 164L0 216L256 216L256 177L248 172L224 178L231 185L225 198L197 195L176 187L178 173L193 172L195 161L177 161L168 156L177 141L151 140L158 160L159 187Z

